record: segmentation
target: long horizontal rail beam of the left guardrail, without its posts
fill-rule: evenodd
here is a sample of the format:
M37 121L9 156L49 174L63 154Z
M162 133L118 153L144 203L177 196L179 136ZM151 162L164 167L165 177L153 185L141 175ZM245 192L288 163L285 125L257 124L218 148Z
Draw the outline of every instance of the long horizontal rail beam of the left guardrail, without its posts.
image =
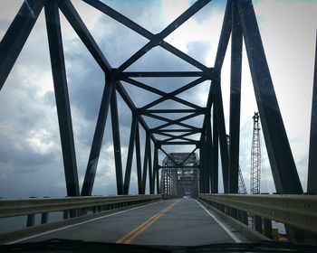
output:
M110 204L130 204L159 200L161 195L120 195L108 197L65 197L24 200L0 200L0 218L48 213L51 211L78 210Z

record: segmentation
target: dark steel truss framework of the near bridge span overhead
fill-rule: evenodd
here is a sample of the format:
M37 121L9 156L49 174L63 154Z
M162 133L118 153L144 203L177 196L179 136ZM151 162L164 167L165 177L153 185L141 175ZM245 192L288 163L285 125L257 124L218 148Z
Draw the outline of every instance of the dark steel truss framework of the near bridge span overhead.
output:
M187 11L180 14L177 19L163 29L160 33L149 32L138 23L131 21L128 17L120 14L110 6L99 0L82 0L87 5L99 10L101 13L127 26L131 30L149 42L134 53L127 61L124 61L119 68L112 68L97 42L95 42L90 31L82 21L80 14L70 0L29 0L24 2L13 23L5 33L0 43L0 89L5 84L14 62L24 47L29 34L31 33L37 17L44 9L46 28L49 42L49 51L53 71L53 85L56 100L58 122L62 143L62 158L65 173L67 194L69 196L91 195L98 160L101 154L102 137L110 107L112 122L112 136L115 156L115 170L118 194L129 194L130 175L134 149L136 151L136 164L138 173L139 194L146 192L147 176L149 175L149 192L159 192L159 150L164 153L165 145L195 145L200 156L200 192L218 192L218 147L220 146L221 165L226 193L238 191L238 169L239 169L239 131L240 131L240 95L241 95L241 62L243 38L245 49L251 70L255 98L262 121L265 145L274 176L276 191L280 193L303 193L303 188L293 161L293 154L283 126L283 119L274 92L268 64L266 62L264 47L261 40L259 28L256 22L255 10L251 0L228 0L226 13L222 24L221 35L218 42L216 61L213 68L208 68L201 62L179 51L177 48L165 41L168 34L174 32L179 26L187 22L200 9L204 8L210 0L198 0L191 5ZM105 84L101 98L101 107L91 152L87 163L82 190L78 183L76 155L72 133L72 116L68 96L64 52L62 46L62 33L59 10L72 25L73 30L78 34L95 61L104 71ZM231 36L231 91L230 91L230 117L229 136L230 147L227 152L226 126L221 91L221 70ZM197 71L127 71L135 61L139 60L154 47L160 47L179 59L186 61L196 67ZM317 192L317 84L315 65L313 102L312 102L312 131L309 154L308 169L308 192ZM152 88L144 82L133 78L183 78L193 77L193 80L183 87L172 92L164 92L158 88ZM207 105L202 108L192 104L178 95L187 89L197 86L204 81L210 82L210 89L207 97ZM140 89L148 90L160 96L148 105L137 108L130 98L130 94L124 89L122 81ZM130 127L130 142L125 174L122 173L120 130L118 119L117 93L126 102L132 113ZM188 109L153 109L162 101L173 100ZM274 109L273 109L274 108ZM211 117L211 111L213 117ZM161 114L174 113L187 116L170 119L162 117ZM203 115L204 121L201 127L191 126L184 121L189 118ZM166 123L150 128L144 116L163 120ZM141 163L139 126L146 131L145 154L143 164ZM173 127L173 128L170 128ZM200 139L191 136L200 134ZM157 136L165 136L159 140ZM154 146L153 161L151 157L151 145Z

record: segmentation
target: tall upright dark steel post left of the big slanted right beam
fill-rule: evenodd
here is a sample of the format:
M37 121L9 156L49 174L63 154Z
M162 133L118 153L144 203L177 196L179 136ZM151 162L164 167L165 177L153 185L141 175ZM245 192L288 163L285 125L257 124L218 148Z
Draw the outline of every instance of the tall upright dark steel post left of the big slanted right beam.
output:
M231 33L231 87L230 87L230 145L229 145L229 189L238 192L239 142L240 142L240 102L242 68L242 29L236 1L232 8Z

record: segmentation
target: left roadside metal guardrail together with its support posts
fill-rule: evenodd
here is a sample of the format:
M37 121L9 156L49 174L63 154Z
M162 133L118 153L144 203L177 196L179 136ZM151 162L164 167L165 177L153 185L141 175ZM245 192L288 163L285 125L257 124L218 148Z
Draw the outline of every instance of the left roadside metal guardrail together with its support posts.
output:
M0 200L0 218L27 215L26 226L34 226L36 214L41 214L41 223L48 222L53 211L62 211L63 219L89 213L109 211L128 205L157 201L161 195L120 195L65 198L30 198L23 200Z

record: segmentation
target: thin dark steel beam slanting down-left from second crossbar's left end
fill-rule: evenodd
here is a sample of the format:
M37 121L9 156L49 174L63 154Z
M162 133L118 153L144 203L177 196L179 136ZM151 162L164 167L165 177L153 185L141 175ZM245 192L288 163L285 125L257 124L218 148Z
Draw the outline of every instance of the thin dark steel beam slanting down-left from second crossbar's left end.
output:
M127 157L127 166L126 166L126 173L124 176L124 185L123 185L123 192L124 194L129 194L130 188L130 178L131 178L131 169L132 169L132 159L133 159L133 151L134 151L134 141L136 136L136 128L138 124L138 116L132 113L132 122L131 122L131 130L130 130L130 140L129 140L129 150L128 150L128 157Z

